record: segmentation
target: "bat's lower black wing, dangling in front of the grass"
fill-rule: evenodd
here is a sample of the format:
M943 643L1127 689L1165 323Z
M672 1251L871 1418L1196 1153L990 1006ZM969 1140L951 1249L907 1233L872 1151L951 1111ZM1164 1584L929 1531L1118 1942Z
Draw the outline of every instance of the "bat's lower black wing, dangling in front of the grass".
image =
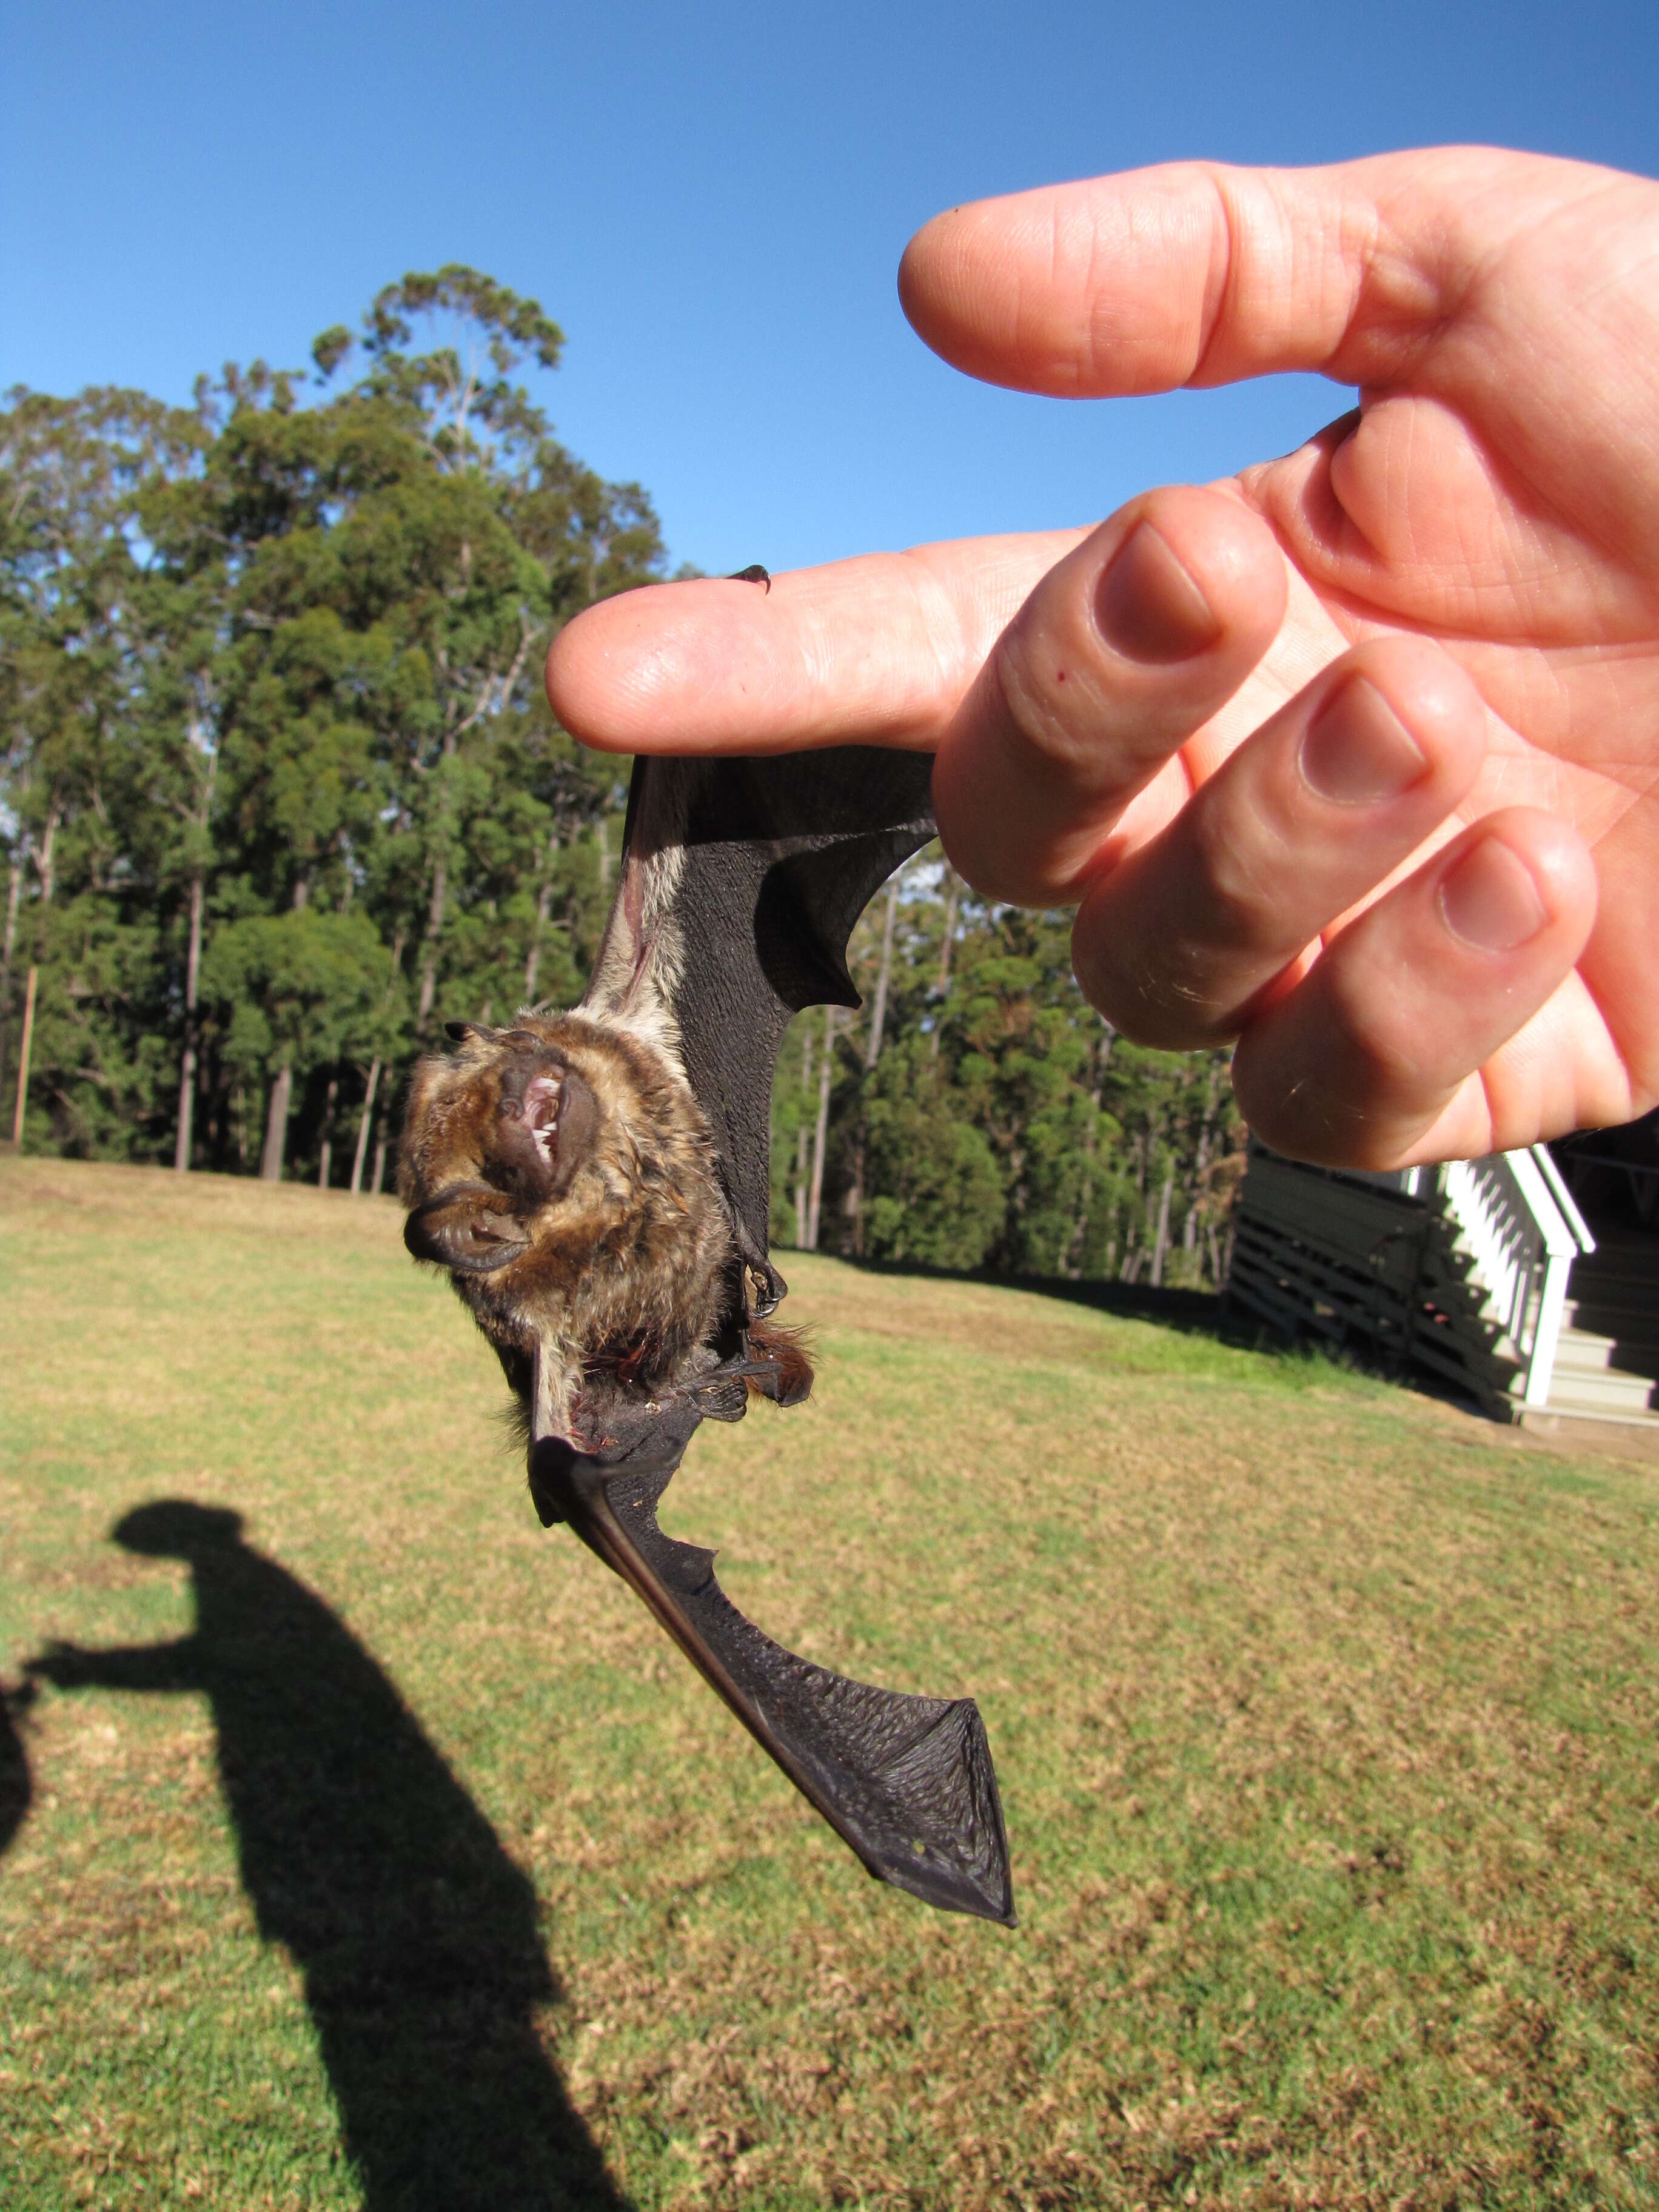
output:
M1013 1927L1009 1840L973 1699L900 1697L785 1652L726 1597L712 1551L657 1526L699 1418L686 1402L639 1420L602 1455L549 1438L531 1458L538 1509L568 1520L630 1584L869 1874Z

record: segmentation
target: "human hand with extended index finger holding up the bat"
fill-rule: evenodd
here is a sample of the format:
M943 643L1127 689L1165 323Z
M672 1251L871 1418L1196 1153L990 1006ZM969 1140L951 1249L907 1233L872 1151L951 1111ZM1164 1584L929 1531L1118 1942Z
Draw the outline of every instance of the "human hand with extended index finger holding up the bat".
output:
M936 217L900 299L1077 398L1316 369L1296 453L1091 531L668 584L549 655L619 752L938 752L980 891L1126 1035L1389 1168L1659 1099L1659 186L1489 148L1179 164Z

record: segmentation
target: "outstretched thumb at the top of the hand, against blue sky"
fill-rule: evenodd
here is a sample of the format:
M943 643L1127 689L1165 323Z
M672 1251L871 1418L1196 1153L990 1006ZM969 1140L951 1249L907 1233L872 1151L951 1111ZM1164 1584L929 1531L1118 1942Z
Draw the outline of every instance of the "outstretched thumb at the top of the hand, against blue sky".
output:
M1482 146L1301 170L1172 161L936 215L898 294L938 354L1022 392L1272 369L1387 383L1480 261L1608 175Z

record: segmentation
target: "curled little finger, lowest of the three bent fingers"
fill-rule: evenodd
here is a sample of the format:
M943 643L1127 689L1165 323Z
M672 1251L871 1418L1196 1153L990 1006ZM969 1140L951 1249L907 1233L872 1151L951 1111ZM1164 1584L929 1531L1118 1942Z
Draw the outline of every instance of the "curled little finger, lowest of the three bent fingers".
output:
M1245 1119L1285 1152L1354 1168L1571 1126L1524 1031L1593 922L1579 836L1531 807L1486 814L1250 1022L1232 1060Z

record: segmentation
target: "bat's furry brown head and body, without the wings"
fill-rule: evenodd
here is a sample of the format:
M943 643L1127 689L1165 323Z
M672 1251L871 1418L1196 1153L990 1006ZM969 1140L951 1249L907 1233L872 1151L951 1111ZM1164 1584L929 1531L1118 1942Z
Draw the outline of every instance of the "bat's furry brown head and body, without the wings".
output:
M533 1433L577 1436L588 1383L672 1383L721 1325L732 1225L708 1126L670 1055L619 1024L449 1035L409 1091L405 1243L449 1270Z

